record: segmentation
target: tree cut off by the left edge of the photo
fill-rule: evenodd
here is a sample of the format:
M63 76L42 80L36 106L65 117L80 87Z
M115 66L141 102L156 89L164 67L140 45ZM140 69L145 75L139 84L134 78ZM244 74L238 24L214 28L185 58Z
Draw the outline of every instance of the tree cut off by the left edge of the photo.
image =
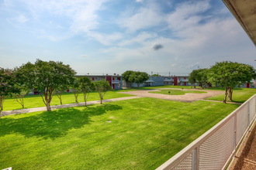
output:
M0 67L0 117L2 115L2 110L4 109L3 103L5 101L5 97L12 93L19 93L19 89L15 86L14 78L15 74L12 70Z

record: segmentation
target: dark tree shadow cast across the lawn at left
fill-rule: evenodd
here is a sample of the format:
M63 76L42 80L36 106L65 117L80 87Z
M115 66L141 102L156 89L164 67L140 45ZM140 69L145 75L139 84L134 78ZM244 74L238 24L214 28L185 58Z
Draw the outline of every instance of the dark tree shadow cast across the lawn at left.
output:
M6 134L22 134L26 138L41 137L43 139L59 138L67 134L70 129L79 129L90 124L91 117L106 114L107 111L122 110L116 104L103 104L100 106L69 107L44 111L28 117L3 117L0 119L0 137Z

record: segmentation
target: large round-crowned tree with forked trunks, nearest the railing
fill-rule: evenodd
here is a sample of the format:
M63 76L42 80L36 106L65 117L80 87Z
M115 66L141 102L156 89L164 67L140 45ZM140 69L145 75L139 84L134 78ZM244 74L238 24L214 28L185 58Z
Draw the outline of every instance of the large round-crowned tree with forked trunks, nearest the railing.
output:
M243 63L223 61L216 63L209 69L208 80L212 84L220 84L225 88L223 103L226 104L227 95L232 101L234 87L251 81L254 69Z

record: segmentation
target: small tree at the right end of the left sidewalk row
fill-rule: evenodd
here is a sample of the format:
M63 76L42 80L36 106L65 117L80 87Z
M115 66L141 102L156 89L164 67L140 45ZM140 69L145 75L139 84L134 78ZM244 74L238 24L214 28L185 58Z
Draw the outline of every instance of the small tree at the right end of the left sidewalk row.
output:
M103 97L109 90L112 90L112 87L109 85L109 82L104 79L95 81L94 86L95 90L99 93L100 104L102 104Z

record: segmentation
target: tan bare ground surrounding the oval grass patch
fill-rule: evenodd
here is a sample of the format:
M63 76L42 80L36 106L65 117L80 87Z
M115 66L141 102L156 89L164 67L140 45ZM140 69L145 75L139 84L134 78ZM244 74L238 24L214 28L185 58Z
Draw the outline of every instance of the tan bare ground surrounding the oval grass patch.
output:
M159 90L181 90L181 89L161 88L157 90L137 90L137 91L127 91L127 92L119 92L119 93L132 94L132 95L136 95L137 97L152 97L157 99L175 100L175 101L182 101L187 103L191 103L193 101L202 100L207 97L213 97L213 96L224 93L223 91L217 91L217 90L200 90L200 91L205 91L207 93L185 93L185 95L148 93L150 91L159 91ZM190 90L190 89L185 89L185 90ZM196 89L191 89L191 90L196 90Z

